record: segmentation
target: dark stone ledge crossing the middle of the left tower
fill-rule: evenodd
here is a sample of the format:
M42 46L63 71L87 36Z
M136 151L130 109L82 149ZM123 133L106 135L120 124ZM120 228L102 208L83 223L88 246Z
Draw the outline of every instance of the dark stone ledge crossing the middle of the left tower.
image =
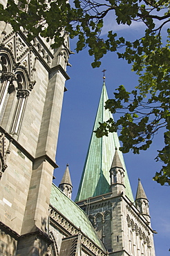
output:
M35 163L35 161L41 159L42 161L47 161L48 163L50 163L50 165L52 165L54 168L59 167L57 165L57 163L55 163L55 161L53 161L53 159L51 159L47 154L44 154L44 155L41 155L41 156L35 158L24 147L22 147L21 144L18 143L17 140L15 140L15 138L13 138L10 134L8 134L8 132L5 131L2 127L0 127L0 131L3 134L5 134L6 138L8 140L10 140L11 143L13 145L15 145L15 147L17 147L17 149L19 149L22 152L22 154L24 154L28 159L30 159L30 161L32 161L32 163Z

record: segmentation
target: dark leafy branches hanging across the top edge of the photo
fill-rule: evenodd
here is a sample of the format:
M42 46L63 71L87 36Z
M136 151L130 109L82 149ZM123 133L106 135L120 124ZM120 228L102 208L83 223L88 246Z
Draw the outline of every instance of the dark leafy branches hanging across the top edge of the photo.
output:
M108 12L114 12L115 24L131 26L133 22L142 21L146 26L144 37L129 42L108 31L107 39L101 38L104 17ZM88 45L89 54L95 57L93 67L100 66L100 58L107 51L117 51L124 46L125 53L119 57L126 58L129 63L136 62L136 70L142 53L148 54L161 46L161 30L170 17L169 0L74 0L73 7L67 0L21 0L18 4L8 0L5 9L1 5L0 14L1 20L9 22L15 30L21 26L28 30L29 39L37 35L48 41L55 39L54 48L64 41L62 31L65 28L70 38L78 37L77 52Z

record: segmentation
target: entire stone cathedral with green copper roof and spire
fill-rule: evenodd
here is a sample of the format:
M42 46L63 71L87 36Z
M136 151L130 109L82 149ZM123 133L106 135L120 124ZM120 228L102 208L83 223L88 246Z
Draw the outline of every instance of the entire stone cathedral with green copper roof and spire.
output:
M53 184L68 34L53 51L0 26L0 255L155 256L149 201L131 191L116 133L92 132L75 202L69 167ZM93 130L111 118L103 82Z

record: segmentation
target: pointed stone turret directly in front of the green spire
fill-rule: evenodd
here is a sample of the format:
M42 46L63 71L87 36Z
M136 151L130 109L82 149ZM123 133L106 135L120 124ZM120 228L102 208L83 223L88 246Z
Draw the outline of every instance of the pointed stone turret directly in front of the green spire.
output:
M115 155L113 157L113 162L110 170L111 177L111 190L114 195L124 192L124 168L122 162L120 161L120 156L115 148Z

